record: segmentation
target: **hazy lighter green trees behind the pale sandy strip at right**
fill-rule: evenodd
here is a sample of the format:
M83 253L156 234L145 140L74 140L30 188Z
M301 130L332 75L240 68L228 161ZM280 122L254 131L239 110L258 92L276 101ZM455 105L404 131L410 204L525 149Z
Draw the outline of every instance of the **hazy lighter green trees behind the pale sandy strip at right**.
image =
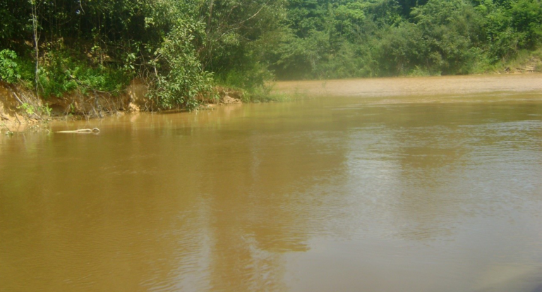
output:
M535 49L540 0L290 0L281 78L488 71Z

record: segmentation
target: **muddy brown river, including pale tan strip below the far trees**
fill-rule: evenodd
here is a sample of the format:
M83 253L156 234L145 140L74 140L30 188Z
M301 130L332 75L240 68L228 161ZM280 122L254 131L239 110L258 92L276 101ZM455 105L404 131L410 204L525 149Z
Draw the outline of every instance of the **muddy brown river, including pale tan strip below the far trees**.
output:
M0 137L0 291L542 291L542 75Z

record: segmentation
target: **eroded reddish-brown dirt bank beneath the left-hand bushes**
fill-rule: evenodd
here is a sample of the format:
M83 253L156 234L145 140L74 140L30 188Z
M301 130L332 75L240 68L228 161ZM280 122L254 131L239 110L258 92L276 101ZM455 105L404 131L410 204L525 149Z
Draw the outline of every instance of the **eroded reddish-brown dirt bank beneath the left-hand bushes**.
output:
M103 118L134 111L155 111L157 104L147 98L148 87L141 80L133 80L119 95L108 92L72 92L63 97L41 99L31 90L0 82L0 133L40 128L47 121L66 118ZM215 87L217 99L201 98L210 104L241 103L243 92L226 87Z

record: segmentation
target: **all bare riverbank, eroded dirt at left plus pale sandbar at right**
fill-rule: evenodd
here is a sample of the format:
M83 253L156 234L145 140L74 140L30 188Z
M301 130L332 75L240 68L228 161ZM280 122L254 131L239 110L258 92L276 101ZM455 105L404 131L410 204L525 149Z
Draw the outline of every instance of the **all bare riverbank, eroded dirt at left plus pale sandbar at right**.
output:
M275 83L270 93L272 98L267 101L286 100L294 96L351 96L390 97L379 102L397 102L395 97L417 96L420 102L453 102L457 100L454 95L488 92L542 92L542 73L282 81ZM35 98L30 90L0 83L0 133L42 130L47 128L44 124L52 121L161 110L146 94L145 84L133 80L126 90L116 96L104 92L95 92L94 95L71 93L62 98L44 100ZM241 90L227 87L215 87L215 96L214 99L200 99L202 105L198 109L251 102Z

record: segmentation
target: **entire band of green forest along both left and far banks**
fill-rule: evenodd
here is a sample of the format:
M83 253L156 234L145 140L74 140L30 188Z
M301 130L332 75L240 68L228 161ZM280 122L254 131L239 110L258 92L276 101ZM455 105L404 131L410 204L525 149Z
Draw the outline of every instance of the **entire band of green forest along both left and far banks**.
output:
M0 18L4 83L47 99L116 95L138 78L163 109L194 108L216 85L259 99L272 79L542 59L540 0L2 0Z

